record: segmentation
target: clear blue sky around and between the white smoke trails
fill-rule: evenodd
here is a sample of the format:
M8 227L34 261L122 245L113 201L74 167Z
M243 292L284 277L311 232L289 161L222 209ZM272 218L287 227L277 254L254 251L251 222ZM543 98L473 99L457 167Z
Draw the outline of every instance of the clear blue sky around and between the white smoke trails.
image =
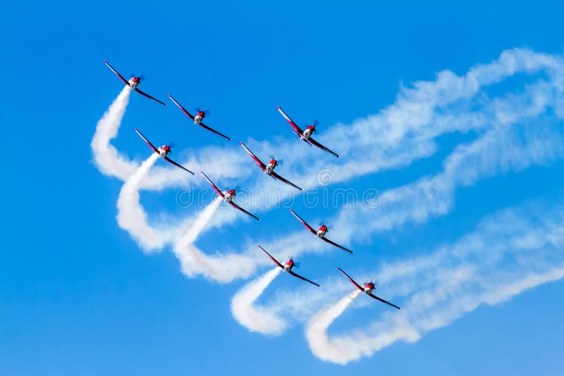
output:
M155 143L174 139L178 149L228 145L186 128L190 124L168 93L187 107L211 108L219 130L233 137L229 147L249 137L295 142L278 105L291 109L300 124L319 119L322 134L336 123L379 113L396 101L401 85L434 80L441 70L463 75L515 47L564 54L559 1L337 3L4 4L1 375L564 373L561 280L481 306L414 344L399 341L343 368L312 354L300 322L278 337L240 326L230 302L244 280L218 284L186 277L168 249L147 256L118 227L122 182L99 173L90 149L97 121L122 87L105 59L123 75L145 75L141 88L170 103L162 108L132 94L114 144L141 159L148 149L135 126ZM507 86L525 87L529 78L511 80L492 87L483 100L497 90L512 92ZM438 173L467 137L441 136L432 156L346 184L384 192ZM333 162L321 151L312 155ZM323 280L337 265L373 270L383 261L457 242L503 208L539 200L551 206L560 201L563 173L564 161L556 158L483 177L457 188L444 215L377 232L366 244L348 243L360 253L355 259L304 256L304 274ZM183 215L174 192L142 193L147 211ZM329 218L338 211L309 215ZM199 246L212 253L239 250L241 239L297 226L288 213L268 211L260 223L230 223L205 234ZM288 291L298 285L293 282L278 278L274 284L284 290L269 291ZM349 311L336 330L370 322L382 309Z

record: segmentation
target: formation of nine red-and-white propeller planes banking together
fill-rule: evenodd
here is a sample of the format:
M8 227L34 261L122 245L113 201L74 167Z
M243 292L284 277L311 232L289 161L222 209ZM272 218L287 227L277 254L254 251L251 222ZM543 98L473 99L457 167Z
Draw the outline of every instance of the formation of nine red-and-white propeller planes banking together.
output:
M154 96L151 96L145 92L142 92L138 86L141 83L142 77L141 76L135 76L132 75L132 77L130 77L129 80L125 80L125 78L120 75L118 73L117 70L115 70L107 61L104 61L104 63L108 66L108 68L114 72L119 79L128 87L130 87L132 90L134 90L135 92L141 94L142 96L147 97L148 99L152 99L153 101L156 101L159 104L162 104L163 106L166 106L166 104L162 101L159 101L159 99L154 98ZM208 115L207 111L202 111L200 109L196 109L196 115L192 115L190 112L188 112L188 110L186 110L182 105L180 105L180 103L178 103L178 101L176 101L176 99L173 98L173 96L171 96L170 94L168 95L168 98L171 99L171 101L173 101L174 104L176 104L176 106L178 106L178 108L180 108L180 111L182 111L186 116L188 116L188 118L190 118L190 120L192 120L194 122L195 125L200 125L200 127L204 128L205 130L208 130L209 132L212 132L214 134L217 134L220 137L223 137L224 139L227 139L228 141L231 141L230 137L227 137L225 134L214 130L214 128L209 127L208 125L205 125L204 123L202 123L202 121L204 120L204 118L206 118L206 116ZM312 134L314 134L314 132L317 131L316 126L317 126L317 121L314 122L314 124L312 125L307 125L305 127L305 129L302 130L302 128L300 128L298 125L296 125L296 123L294 123L294 121L282 110L282 108L280 108L279 106L277 107L278 112L281 113L281 115L283 116L283 118L285 118L288 123L290 123L290 126L292 127L293 132L300 138L301 141L306 142L307 144L309 144L309 146L317 146L319 149L326 151L327 153L330 153L331 155L335 156L335 157L339 157L337 153L335 153L334 151L332 151L331 149L327 148L326 146L320 144L319 142L315 141L312 138ZM139 131L137 130L137 128L135 128L135 132L137 132L137 134L143 139L143 141L145 141L147 143L147 145L149 145L149 147L152 149L152 151L154 151L155 153L159 154L159 156L161 158L163 158L165 161L167 161L168 163L171 163L172 165L175 165L178 168L181 168L182 170L185 170L187 173L190 173L192 175L195 175L192 171L188 170L188 168L185 168L183 165L180 165L179 163L176 163L175 161L173 161L171 158L168 158L168 154L171 153L172 151L172 144L168 144L168 145L161 145L158 148L155 147L151 142L149 142L149 140ZM276 161L276 159L271 158L271 161L269 161L269 163L265 164L264 162L262 162L254 153L252 153L252 151L250 151L250 149L245 146L245 144L243 144L243 142L240 142L241 147L243 147L243 149L249 154L249 156L255 161L255 163L257 163L257 166L259 168L261 168L262 172L265 175L269 175L270 177L272 177L274 180L278 180L280 182L283 182L285 184L290 185L291 187L298 189L300 191L302 191L302 188L298 187L298 185L294 184L293 182L290 182L288 180L286 180L285 178L281 177L280 175L278 175L278 173L274 172L274 169L276 168L276 166L278 166L278 161ZM242 208L241 206L239 206L237 203L233 202L233 199L236 196L236 189L226 189L224 191L221 191L216 184L214 184L214 182L212 182L212 180L209 179L209 177L207 177L207 175L203 172L200 171L200 173L202 174L202 176L204 177L205 180L207 180L207 182L212 186L212 188L214 189L214 191L216 192L216 194L218 196L221 197L221 199L223 199L223 201L225 201L226 203L230 204L231 206L233 206L233 208L238 209L239 211L242 211L243 213L249 215L252 218L255 218L256 220L259 220L259 218L250 213L249 211L245 210L245 208ZM295 216L295 218L297 218L300 223L302 223L302 225L304 225L306 227L306 229L311 232L314 237L321 239L322 241L326 242L327 244L331 244L332 246L335 246L338 249L341 249L343 251L346 251L348 253L353 253L353 251L351 251L350 249L345 248L344 246L341 246L339 244L336 244L335 242L332 242L331 240L326 238L326 234L327 232L329 232L327 226L325 224L322 224L321 227L319 227L318 230L314 230L313 227L311 227L310 225L307 224L307 222L305 222L305 220L303 220L297 213L295 213L295 211L293 211L292 209L290 209L290 213L292 213L292 215ZM266 256L268 256L279 268L281 268L283 271L288 272L288 274L292 275L293 277L297 277L300 280L304 280L305 282L309 282L310 284L314 284L315 286L319 287L319 284L317 284L316 282L313 282L312 280L308 280L305 277L302 277L301 275L296 274L295 272L293 272L293 268L298 268L297 263L295 263L295 261L293 260L293 257L290 257L288 259L288 261L285 261L284 263L280 263L276 260L276 258L274 258L273 256L271 256L271 254L266 251L266 249L262 248L262 246L258 245L259 249L261 249L264 253L266 253ZM389 306L392 306L394 308L400 309L400 307L396 306L393 303L390 303L389 301L386 301L384 299L379 298L378 296L372 294L372 292L374 292L374 289L376 288L376 284L375 282L372 282L372 280L370 280L369 282L365 282L364 284L362 284L362 286L360 284L358 284L357 282L355 282L355 280L353 280L353 278L351 278L347 273L345 273L341 268L337 268L352 284L355 285L355 287L357 289L359 289L361 292L363 292L364 294L367 294L368 296L372 297L373 299L376 299L378 301L381 301L382 303L386 303Z

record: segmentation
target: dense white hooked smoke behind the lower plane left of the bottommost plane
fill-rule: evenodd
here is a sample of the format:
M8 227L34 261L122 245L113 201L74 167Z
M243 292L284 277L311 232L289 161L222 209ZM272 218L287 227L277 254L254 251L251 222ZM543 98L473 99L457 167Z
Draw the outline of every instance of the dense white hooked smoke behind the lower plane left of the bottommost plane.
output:
M281 268L269 270L262 277L253 280L239 290L231 299L231 313L240 325L247 327L251 332L262 334L281 334L286 329L286 322L276 315L270 315L263 308L253 306L253 303L262 295L266 287L282 271Z

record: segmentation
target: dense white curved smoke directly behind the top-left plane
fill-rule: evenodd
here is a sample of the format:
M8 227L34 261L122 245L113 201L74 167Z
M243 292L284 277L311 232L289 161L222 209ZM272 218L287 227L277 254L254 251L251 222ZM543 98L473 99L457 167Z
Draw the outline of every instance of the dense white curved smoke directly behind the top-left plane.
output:
M94 155L94 164L98 170L105 175L118 177L123 182L135 173L137 165L121 155L110 142L118 135L125 108L127 108L129 103L130 94L131 88L128 86L123 87L121 93L114 99L108 110L98 121L96 132L90 143L90 148Z

